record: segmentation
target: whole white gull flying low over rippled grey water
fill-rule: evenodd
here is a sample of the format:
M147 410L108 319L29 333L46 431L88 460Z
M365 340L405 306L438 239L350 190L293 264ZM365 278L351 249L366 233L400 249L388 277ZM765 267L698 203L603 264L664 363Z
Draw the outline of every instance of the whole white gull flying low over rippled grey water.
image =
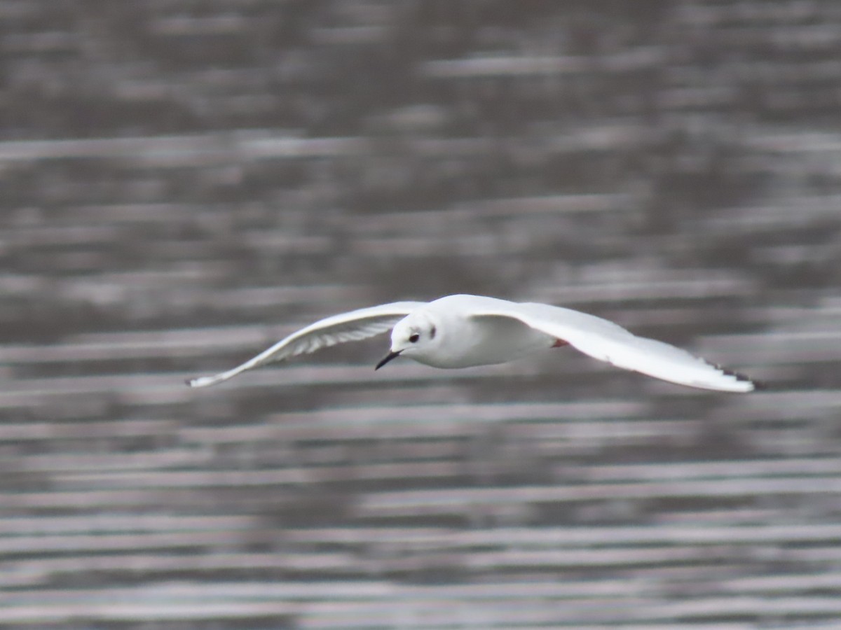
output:
M594 359L680 385L753 391L757 384L606 319L569 308L495 297L454 295L433 302L392 302L333 315L281 339L232 370L187 381L206 387L246 370L320 348L391 331L391 348L375 370L398 356L438 368L491 365L571 345Z

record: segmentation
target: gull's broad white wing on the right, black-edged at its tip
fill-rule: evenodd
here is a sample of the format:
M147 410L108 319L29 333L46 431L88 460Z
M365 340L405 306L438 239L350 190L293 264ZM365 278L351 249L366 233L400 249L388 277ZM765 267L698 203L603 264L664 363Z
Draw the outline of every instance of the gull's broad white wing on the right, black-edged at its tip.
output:
M477 312L474 318L514 318L542 333L562 339L594 359L680 385L717 391L753 391L747 376L664 344L637 337L606 319L569 308L527 302Z

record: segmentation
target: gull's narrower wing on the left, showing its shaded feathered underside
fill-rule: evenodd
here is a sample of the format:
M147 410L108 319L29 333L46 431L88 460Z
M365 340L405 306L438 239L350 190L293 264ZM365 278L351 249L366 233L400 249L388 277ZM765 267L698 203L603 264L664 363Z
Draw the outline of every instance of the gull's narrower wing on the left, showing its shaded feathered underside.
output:
M301 328L297 333L281 339L277 344L263 350L242 365L237 365L220 374L192 379L187 381L187 384L191 387L207 387L227 381L232 376L267 363L283 361L299 354L309 354L346 341L367 339L389 331L395 323L405 318L410 312L425 305L426 302L392 302L320 319L306 328Z

